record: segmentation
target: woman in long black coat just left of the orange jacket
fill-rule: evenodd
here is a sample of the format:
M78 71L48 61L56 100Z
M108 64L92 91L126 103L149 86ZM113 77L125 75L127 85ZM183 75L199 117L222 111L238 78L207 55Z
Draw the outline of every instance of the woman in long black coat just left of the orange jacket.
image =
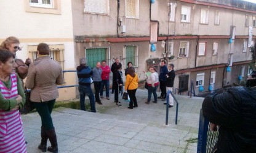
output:
M118 102L118 92L119 88L122 88L122 72L121 72L121 65L116 65L116 70L113 72L113 86L112 88L114 89L114 102L116 105L121 106Z

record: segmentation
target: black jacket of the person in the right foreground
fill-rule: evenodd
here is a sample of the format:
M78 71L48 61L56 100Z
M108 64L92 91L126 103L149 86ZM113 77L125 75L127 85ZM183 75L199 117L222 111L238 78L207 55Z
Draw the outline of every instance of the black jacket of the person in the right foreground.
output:
M233 87L209 95L202 103L202 113L220 125L218 153L256 152L256 88Z

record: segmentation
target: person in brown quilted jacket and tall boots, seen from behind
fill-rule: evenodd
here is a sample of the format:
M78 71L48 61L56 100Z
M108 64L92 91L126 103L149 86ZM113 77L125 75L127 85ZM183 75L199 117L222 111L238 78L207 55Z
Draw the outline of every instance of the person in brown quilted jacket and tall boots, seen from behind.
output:
M58 152L57 138L52 123L52 109L58 97L57 84L63 84L62 67L49 56L50 48L46 43L38 45L38 58L30 64L26 87L31 89L30 100L42 119L41 144L38 146L46 152L46 143L49 138L52 146L50 152Z

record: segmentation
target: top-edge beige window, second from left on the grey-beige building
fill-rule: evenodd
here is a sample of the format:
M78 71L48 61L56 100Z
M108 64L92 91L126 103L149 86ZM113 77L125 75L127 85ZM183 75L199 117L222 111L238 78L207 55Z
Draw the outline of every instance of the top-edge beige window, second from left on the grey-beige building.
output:
M126 18L138 18L139 16L138 6L139 6L139 0L126 0Z

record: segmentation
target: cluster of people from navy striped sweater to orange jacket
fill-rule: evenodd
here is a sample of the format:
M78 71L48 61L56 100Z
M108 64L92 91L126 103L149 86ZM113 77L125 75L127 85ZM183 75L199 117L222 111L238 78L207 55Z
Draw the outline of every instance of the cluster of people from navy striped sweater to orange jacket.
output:
M88 95L90 100L90 111L96 112L95 102L99 105L102 105L103 99L103 89L105 87L106 99L110 100L110 71L113 73L113 83L112 83L112 94L114 94L114 103L121 106L119 102L119 94L122 93L124 81L122 80L122 64L120 63L119 58L116 58L116 61L112 64L111 69L106 65L106 61L102 63L97 62L96 67L91 69L87 66L87 59L80 58L79 66L76 68L78 74L78 84L79 84L79 94L80 94L80 105L81 110L86 110L85 107L85 96ZM127 68L125 71L126 75L126 87L130 97L130 109L137 107L136 99L136 90L138 88L138 76L135 73L134 67L132 67L132 62L128 62ZM91 83L94 83L95 95L92 92ZM95 99L94 99L95 98Z

